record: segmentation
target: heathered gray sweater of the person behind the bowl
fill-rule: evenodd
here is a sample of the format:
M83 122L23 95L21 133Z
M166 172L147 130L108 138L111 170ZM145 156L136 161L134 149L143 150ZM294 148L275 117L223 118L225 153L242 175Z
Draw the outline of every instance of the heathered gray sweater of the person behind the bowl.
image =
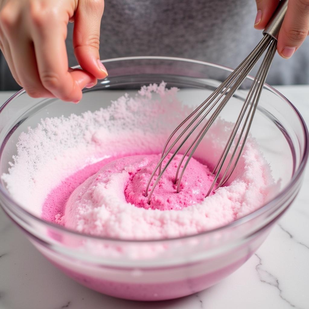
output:
M262 37L254 0L106 0L100 57L174 56L235 68ZM73 24L68 26L69 64ZM309 39L289 59L275 56L267 82L309 83ZM0 90L18 89L0 59Z

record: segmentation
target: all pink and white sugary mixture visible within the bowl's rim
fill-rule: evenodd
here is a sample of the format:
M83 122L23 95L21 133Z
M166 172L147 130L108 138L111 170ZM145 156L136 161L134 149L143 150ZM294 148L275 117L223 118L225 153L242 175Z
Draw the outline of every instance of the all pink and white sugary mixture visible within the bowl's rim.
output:
M180 193L173 184L181 158L176 156L153 204L147 204L146 183L162 147L193 108L181 104L176 94L176 88L162 82L96 112L44 119L20 135L14 163L2 179L29 212L114 238L191 235L258 209L276 185L251 137L228 184L205 198L213 179L208 166L216 164L232 128L223 120L214 123L197 148Z

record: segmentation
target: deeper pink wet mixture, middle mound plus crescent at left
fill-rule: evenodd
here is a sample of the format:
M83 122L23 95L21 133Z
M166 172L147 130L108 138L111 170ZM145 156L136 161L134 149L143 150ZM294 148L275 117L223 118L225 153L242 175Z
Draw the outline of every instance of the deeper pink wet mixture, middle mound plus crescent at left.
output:
M165 164L170 157L171 154L167 156L163 164ZM182 155L176 155L171 161L171 164L154 190L150 205L148 205L147 202L148 198L145 197L145 189L150 175L160 159L160 155L133 155L124 158L110 157L97 163L87 165L63 180L60 185L51 190L42 206L42 218L66 226L64 214L66 211L66 204L70 197L72 197L71 200L75 203L80 200L81 196L84 197L87 195L91 187L93 188L97 184L106 181L108 176L116 175L124 170L129 172L129 179L124 183L122 195L124 195L128 203L144 209L158 210L181 210L184 207L197 204L204 200L214 180L214 176L211 175L206 165L192 158L182 178L180 193L177 194L177 185L174 184L174 179L181 157ZM145 161L145 159L148 164L145 165L145 163L141 162L141 168L134 168L136 164L139 166L139 160ZM117 162L119 163L117 164ZM156 176L150 184L148 189L149 192L155 179ZM210 195L213 193L212 191ZM70 201L69 203L72 202ZM95 206L95 208L97 208L101 205ZM87 206L85 206L85 209L86 208ZM83 209L80 210L82 212L84 211ZM85 217L83 220L85 220ZM91 223L89 224L91 225Z

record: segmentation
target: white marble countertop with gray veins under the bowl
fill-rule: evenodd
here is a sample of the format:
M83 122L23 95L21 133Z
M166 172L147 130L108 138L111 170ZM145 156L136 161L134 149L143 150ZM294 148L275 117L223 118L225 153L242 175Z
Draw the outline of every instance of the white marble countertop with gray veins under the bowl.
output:
M276 88L309 125L309 86ZM0 93L0 104L11 94ZM0 209L0 309L308 309L308 185L309 168L293 205L235 273L197 294L157 303L112 298L79 285L45 260Z

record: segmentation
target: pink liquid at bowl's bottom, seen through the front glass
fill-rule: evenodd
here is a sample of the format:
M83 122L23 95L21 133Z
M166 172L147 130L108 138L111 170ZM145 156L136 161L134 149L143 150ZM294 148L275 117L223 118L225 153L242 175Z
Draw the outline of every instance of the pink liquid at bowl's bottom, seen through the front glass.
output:
M102 265L98 271L97 266L81 264L78 260L68 260L67 257L61 255L56 256L54 252L47 250L44 246L36 242L33 242L33 244L57 268L92 290L129 300L160 301L191 295L218 283L237 270L252 256L264 242L269 231L270 227L268 226L248 242L225 252L223 255L201 260L199 263L184 264L171 268L113 269ZM214 265L214 268L217 269L209 270L210 265ZM221 267L221 265L225 266ZM192 276L192 270L195 273L198 272L199 275ZM121 273L125 280L105 279L104 272L106 271ZM138 278L136 273L139 274ZM162 280L151 283L154 274L161 277ZM175 277L182 277L182 279L175 280L174 275Z

